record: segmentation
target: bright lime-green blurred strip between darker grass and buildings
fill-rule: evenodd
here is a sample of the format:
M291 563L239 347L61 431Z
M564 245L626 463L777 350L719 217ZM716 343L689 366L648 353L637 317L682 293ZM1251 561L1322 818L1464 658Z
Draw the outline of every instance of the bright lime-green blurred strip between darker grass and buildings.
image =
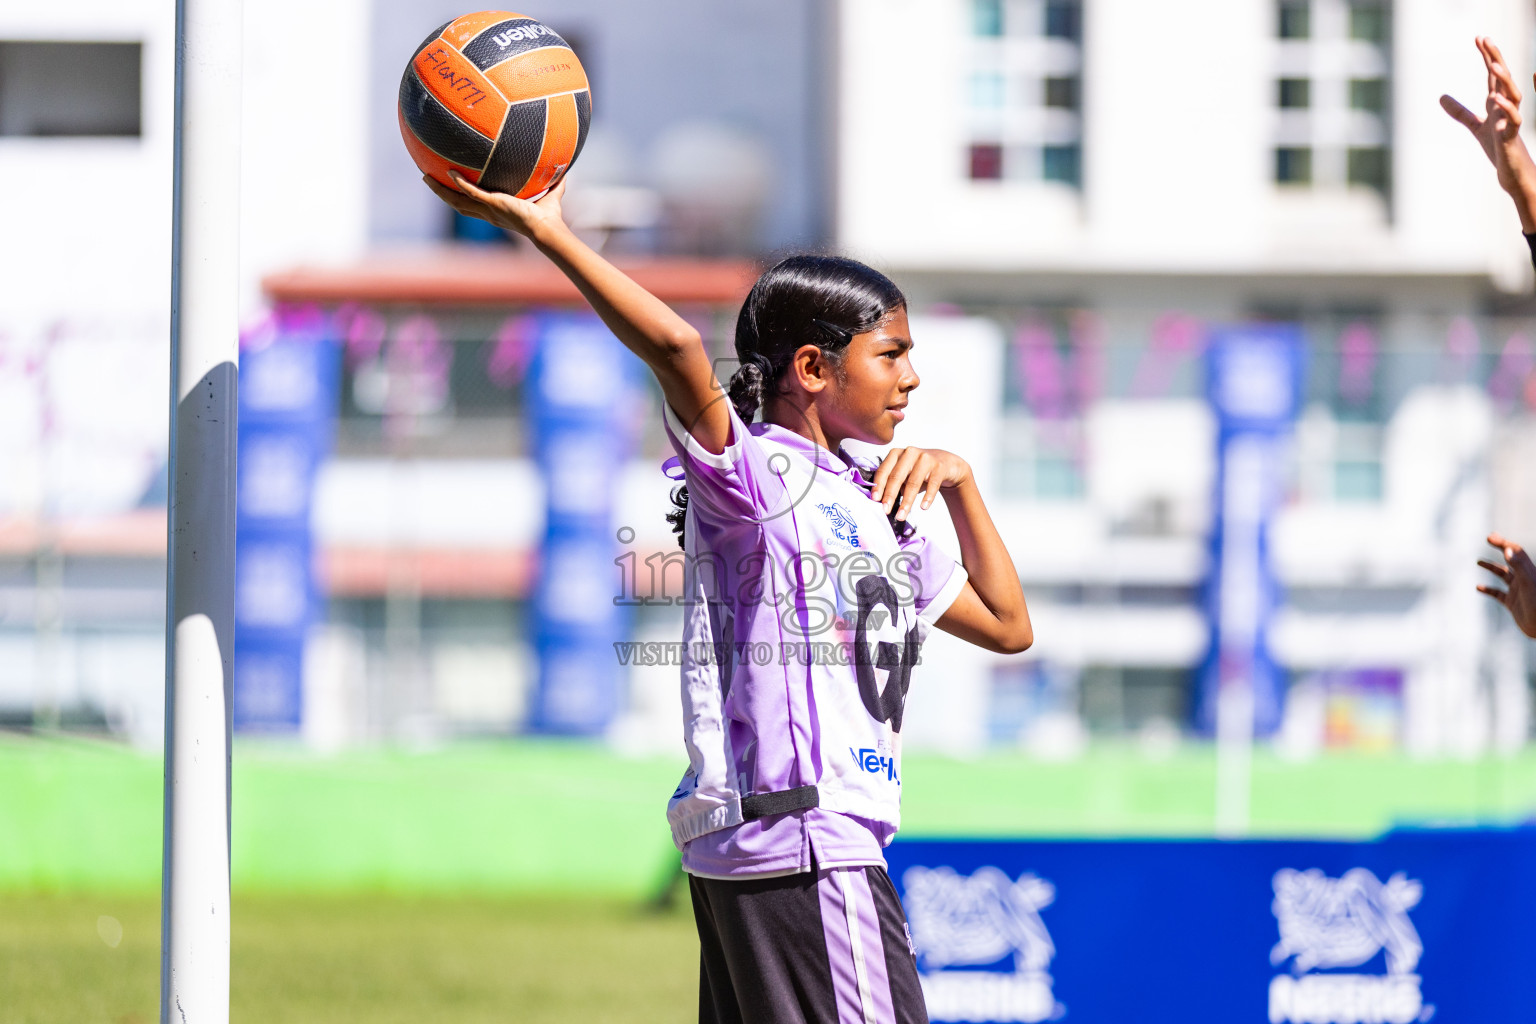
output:
M241 746L241 892L644 898L676 854L664 808L680 758L518 742L316 758ZM909 755L903 835L1209 835L1215 758L1104 746L1066 763ZM0 890L149 892L160 881L160 758L0 737ZM1258 752L1253 834L1362 838L1395 823L1510 823L1536 809L1536 754L1479 761Z

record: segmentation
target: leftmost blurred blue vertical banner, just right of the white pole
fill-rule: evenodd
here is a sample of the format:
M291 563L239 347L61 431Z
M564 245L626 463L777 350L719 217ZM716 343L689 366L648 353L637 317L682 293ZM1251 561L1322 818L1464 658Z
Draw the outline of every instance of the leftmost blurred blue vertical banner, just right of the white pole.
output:
M304 643L321 613L310 528L330 450L339 345L316 310L284 309L241 341L235 491L235 680L240 732L303 725Z

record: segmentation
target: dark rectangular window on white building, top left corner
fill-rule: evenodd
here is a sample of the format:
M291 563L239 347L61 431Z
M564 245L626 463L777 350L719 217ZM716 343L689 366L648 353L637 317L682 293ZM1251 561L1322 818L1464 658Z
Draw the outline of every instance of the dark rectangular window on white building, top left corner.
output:
M143 132L140 43L0 40L0 137Z

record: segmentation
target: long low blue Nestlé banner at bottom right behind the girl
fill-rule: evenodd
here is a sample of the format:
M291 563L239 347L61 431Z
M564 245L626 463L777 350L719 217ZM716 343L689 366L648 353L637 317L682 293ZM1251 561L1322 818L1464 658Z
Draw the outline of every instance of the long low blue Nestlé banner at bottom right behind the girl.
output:
M886 851L932 1021L1536 1015L1536 829Z

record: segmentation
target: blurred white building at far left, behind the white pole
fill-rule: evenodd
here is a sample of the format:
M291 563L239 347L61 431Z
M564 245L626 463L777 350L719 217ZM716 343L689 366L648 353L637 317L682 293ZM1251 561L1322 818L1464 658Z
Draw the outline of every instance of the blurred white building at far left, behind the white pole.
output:
M369 3L244 11L229 201L255 321L263 275L367 243L349 112L369 54L332 48L321 97L292 32L347 38ZM174 86L175 5L0 5L0 722L146 748L163 729Z

